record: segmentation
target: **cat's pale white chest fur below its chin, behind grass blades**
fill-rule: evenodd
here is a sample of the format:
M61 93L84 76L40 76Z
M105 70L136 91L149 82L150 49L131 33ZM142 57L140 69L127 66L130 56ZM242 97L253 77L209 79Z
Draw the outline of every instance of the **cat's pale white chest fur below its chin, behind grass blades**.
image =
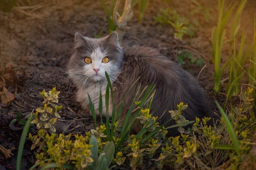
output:
M102 96L102 115L106 116L106 100L105 100L105 93L106 93L106 84L103 84L101 86L95 85L90 87L78 87L78 91L76 92L77 95L77 102L81 103L81 106L83 109L90 108L89 98L88 94L90 95L90 98L92 100L92 103L94 104L94 110L97 115L99 115L99 97L100 97L100 91ZM112 116L112 102L111 99L109 99L109 106L108 106L108 115Z

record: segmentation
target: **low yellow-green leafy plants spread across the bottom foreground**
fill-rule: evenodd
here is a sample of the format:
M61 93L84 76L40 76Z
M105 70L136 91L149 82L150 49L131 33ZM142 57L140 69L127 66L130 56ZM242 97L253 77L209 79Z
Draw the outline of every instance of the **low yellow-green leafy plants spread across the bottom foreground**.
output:
M177 124L166 128L157 123L158 117L153 117L150 114L151 99L148 100L148 96L151 97L153 91L150 86L148 89L144 91L146 96L137 94L137 99L140 98L141 101L135 101L132 105L131 110L134 108L139 110L136 117L130 117L128 123L124 123L122 126L119 119L112 117L111 119L114 121L101 121L100 126L87 132L84 136L74 135L72 137L71 134L55 134L49 128L46 130L45 126L41 126L42 130L40 132L38 130L36 135L29 134L29 139L35 144L34 148L41 147L36 152L36 164L29 170L36 166L39 166L41 170L138 169L139 166L144 169L164 169L168 165L172 165L175 169L213 169L218 167L226 169L238 167L244 155L248 154L252 134L255 130L252 126L255 120L255 115L252 112L253 99L251 98L253 88L248 88L247 91L239 95L241 102L230 109L228 114L230 121L227 121L227 117L223 117L218 126L209 126L207 122L211 118L208 117L187 121L182 116L182 110L186 109L187 105L180 103L177 105L177 110L166 113L171 114ZM55 89L50 91L49 95L42 95L45 97L44 103L56 102L58 98L54 93L56 94ZM105 97L112 97L111 93L108 91L109 95L105 95ZM116 114L118 115L119 111ZM128 128L132 128L131 125L134 121L138 121L141 128L137 135L131 135L128 130ZM194 124L188 130L182 128L192 122ZM27 134L29 124L28 120L24 134ZM180 136L166 137L168 129L174 127L179 129ZM35 138L37 138L37 143L35 143ZM23 137L23 139L25 138ZM44 145L40 143L42 141L45 141ZM24 143L21 142L20 145L22 144Z

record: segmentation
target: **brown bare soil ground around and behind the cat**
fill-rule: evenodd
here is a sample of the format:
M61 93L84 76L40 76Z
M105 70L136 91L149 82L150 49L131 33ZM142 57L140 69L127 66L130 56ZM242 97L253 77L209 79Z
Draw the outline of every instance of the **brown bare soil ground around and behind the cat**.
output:
M213 64L211 59L211 30L217 24L218 2L212 0L198 0L204 8L211 8L213 19L206 21L202 13L191 15L196 9L195 4L190 0L151 0L145 17L140 24L135 6L134 16L128 26L122 42L123 46L133 44L151 46L168 57L175 59L176 45L173 39L174 29L171 25L159 26L155 23L154 17L160 9L171 7L177 13L188 20L197 19L200 26L195 35L190 38L185 36L181 49L193 53L194 49L206 57L202 67L189 65L189 71L198 77L200 85L204 88L209 98L211 110L217 112L214 100L224 104L225 95L213 95ZM231 0L227 0L227 4ZM241 19L241 29L245 29L247 36L253 38L253 19L256 14L256 1L247 0L245 10ZM82 133L93 128L90 115L80 115L82 112L79 103L76 102L74 85L67 79L65 73L67 62L72 54L74 45L74 34L76 32L88 37L94 37L103 29L101 35L108 35L108 20L100 3L96 0L43 0L33 1L28 6L25 1L20 7L14 7L9 13L0 12L0 66L12 65L17 73L25 71L27 80L23 85L18 86L14 101L7 106L0 105L0 118L6 119L0 124L0 144L5 148L11 148L14 154L11 158L5 159L0 153L0 170L16 169L16 157L18 142L20 139L21 126L17 129L11 128L9 123L19 112L23 117L31 113L33 108L43 106L43 99L39 92L45 89L49 91L56 87L61 91L59 105L62 105L59 132L63 127L72 133ZM227 29L228 30L228 29ZM228 35L228 33L227 33ZM241 33L238 34L241 35ZM227 49L224 50L225 51ZM224 56L223 62L227 60ZM224 75L223 79L228 77ZM227 81L225 82L227 83ZM225 93L225 84L222 92ZM69 109L70 108L70 109ZM72 110L73 111L72 111ZM80 116L79 116L80 115ZM79 117L78 117L79 116ZM74 118L78 117L73 122ZM72 123L72 124L70 124ZM70 124L70 125L69 125ZM68 126L69 125L69 126ZM22 169L28 169L34 163L33 153L30 152L30 143L25 144L24 157L22 158ZM2 166L1 166L2 165Z

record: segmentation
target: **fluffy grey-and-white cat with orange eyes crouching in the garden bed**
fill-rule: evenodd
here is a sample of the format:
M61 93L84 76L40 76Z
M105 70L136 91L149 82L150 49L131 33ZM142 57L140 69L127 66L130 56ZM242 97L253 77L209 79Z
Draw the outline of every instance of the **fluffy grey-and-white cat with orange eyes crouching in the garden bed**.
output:
M88 38L76 33L74 53L68 63L68 73L72 83L77 87L77 101L81 103L83 109L89 108L89 94L97 112L100 91L102 94L106 91L105 71L116 89L113 97L115 109L138 79L125 98L121 119L126 117L139 85L141 84L143 89L152 83L155 84L156 92L150 113L160 117L167 110L159 119L159 124L171 119L168 110L176 110L180 102L188 104L182 113L188 120L212 116L204 91L193 76L156 49L146 46L123 48L118 42L116 32L100 39ZM105 97L102 99L103 114L106 114ZM111 116L112 101L109 103L108 113ZM165 127L173 124L175 124L174 120ZM137 133L139 130L136 124L133 132ZM177 135L180 135L177 128L168 129L167 136Z

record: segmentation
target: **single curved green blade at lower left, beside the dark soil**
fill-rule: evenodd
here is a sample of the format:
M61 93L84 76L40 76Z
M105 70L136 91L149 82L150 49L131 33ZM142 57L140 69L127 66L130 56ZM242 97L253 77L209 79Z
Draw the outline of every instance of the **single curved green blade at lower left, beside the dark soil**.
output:
M27 121L26 124L23 128L21 137L20 137L20 144L19 144L19 148L18 148L18 154L17 154L17 166L16 166L16 170L20 170L21 168L21 158L22 158L22 152L23 152L23 148L24 148L24 144L26 141L26 137L27 137L27 132L29 131L29 127L30 127L30 122L32 120L32 116L33 114L31 114Z

